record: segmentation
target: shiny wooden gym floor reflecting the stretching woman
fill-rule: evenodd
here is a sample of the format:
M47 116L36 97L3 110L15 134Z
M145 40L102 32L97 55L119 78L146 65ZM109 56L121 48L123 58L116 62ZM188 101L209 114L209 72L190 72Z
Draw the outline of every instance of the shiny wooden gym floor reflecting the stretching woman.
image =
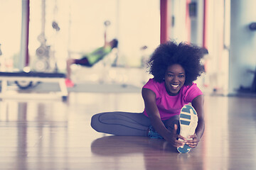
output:
M139 93L0 101L0 169L256 169L256 98L206 96L206 131L188 154L90 128L95 113L142 110Z

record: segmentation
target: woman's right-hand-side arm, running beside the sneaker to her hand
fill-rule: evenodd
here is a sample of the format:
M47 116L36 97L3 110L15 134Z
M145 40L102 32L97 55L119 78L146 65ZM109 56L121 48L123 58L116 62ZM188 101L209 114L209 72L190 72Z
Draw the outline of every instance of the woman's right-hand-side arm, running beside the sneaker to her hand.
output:
M196 147L201 137L203 136L205 121L204 121L204 112L203 112L203 95L197 96L192 101L192 106L195 108L196 113L198 114L198 126L196 128L196 132L194 135L189 136L188 138L192 138L193 140L188 140L186 143L189 147Z

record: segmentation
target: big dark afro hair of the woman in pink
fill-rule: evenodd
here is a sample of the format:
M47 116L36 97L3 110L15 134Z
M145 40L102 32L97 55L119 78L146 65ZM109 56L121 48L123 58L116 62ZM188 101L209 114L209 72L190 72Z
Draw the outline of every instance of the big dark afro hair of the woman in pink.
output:
M188 86L204 72L201 64L204 53L203 48L196 45L188 45L185 42L179 44L174 41L166 42L159 45L151 55L148 62L149 73L154 76L155 81L161 82L164 81L164 75L169 66L180 64L186 73L184 85Z

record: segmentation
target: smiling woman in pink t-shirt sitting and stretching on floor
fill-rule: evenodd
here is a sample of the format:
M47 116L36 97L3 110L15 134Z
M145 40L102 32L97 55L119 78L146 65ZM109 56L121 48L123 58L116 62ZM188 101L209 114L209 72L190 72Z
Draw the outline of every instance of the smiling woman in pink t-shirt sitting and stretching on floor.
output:
M193 81L204 72L201 48L181 42L159 45L149 60L154 76L142 88L142 113L110 112L92 116L97 132L164 138L178 152L198 145L204 131L203 93Z

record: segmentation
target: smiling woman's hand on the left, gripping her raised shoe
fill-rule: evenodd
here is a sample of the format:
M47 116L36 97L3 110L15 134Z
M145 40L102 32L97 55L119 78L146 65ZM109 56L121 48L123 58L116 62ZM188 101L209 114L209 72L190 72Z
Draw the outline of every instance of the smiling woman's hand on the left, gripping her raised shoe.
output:
M170 142L173 147L183 147L183 145L185 145L186 142L188 142L188 140L186 140L185 137L178 135L177 130L178 130L178 125L175 124L174 130L171 130L169 135L164 137L164 139L166 141ZM177 139L181 139L183 141L177 140Z

